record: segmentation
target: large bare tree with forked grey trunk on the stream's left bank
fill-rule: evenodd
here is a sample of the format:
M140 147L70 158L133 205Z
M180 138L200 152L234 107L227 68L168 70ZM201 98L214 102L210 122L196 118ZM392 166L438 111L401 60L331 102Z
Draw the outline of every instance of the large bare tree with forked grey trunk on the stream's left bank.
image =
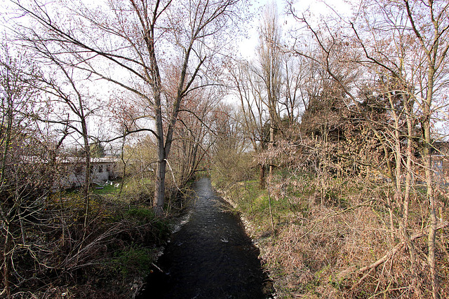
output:
M142 99L136 130L151 132L156 139L153 205L161 216L167 161L181 104L189 92L211 83L209 75L225 39L223 33L238 18L239 0L108 1L98 8L79 1L72 5L67 20L51 14L47 6L13 2L41 27L38 31L23 25L25 34L51 43L49 49L61 63L115 83ZM176 77L168 76L169 57L175 57ZM177 86L174 95L164 92L168 81Z

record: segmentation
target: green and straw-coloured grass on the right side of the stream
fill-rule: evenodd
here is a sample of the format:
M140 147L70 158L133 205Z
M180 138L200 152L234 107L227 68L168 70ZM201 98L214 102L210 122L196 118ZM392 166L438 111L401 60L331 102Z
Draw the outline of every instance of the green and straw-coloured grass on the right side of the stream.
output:
M264 265L277 281L278 295L280 298L316 298L323 294L326 294L323 298L343 298L342 294L347 298L363 296L363 292L370 290L370 284L363 285L358 293L345 292L350 290L354 279L359 279L351 273L373 263L388 248L381 220L386 219L385 211L375 213L379 204L372 209L344 210L368 196L382 197L388 186L366 186L342 179L319 181L309 176L295 176L285 182L285 177L288 175L277 176L270 186L274 232L271 232L268 192L260 189L258 181L239 181L227 192L236 209L251 222ZM402 273L407 270L400 263L397 267L397 279L405 279ZM384 283L382 275L379 281Z

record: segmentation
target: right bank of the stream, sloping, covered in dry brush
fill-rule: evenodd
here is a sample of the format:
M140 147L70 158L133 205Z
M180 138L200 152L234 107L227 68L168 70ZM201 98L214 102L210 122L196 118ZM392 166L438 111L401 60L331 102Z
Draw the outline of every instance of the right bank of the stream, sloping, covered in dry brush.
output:
M363 186L345 188L347 183L341 182L334 185L341 190L321 196L295 183L301 193L291 186L270 186L269 195L258 181L216 186L241 213L278 298L370 298L377 286L389 288L384 284L391 284L392 277L411 279L410 268L400 262L406 251L394 251L388 264L382 265L382 260L380 267L374 264L398 241L385 230L375 202L363 200ZM425 246L424 242L415 239L416 246ZM371 275L364 276L367 272ZM403 281L391 284L391 293L413 293L401 288Z

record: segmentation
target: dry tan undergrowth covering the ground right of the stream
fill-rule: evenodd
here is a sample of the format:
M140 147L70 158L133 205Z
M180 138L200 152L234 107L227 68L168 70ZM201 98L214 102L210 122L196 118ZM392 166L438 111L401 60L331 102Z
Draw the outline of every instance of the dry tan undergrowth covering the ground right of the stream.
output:
M324 186L308 175L285 178L272 176L267 188L255 180L221 188L248 220L279 298L431 298L422 190L410 202L410 253L389 230L386 183L328 179ZM447 209L440 211L448 217ZM448 235L441 230L437 236L442 298L449 295Z

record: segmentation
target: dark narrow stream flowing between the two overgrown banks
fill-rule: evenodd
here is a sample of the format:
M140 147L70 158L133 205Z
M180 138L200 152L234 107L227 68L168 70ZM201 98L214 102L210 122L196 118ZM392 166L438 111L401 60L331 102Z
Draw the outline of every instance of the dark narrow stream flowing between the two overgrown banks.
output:
M272 298L272 282L239 216L209 179L194 190L189 221L173 235L138 298Z

